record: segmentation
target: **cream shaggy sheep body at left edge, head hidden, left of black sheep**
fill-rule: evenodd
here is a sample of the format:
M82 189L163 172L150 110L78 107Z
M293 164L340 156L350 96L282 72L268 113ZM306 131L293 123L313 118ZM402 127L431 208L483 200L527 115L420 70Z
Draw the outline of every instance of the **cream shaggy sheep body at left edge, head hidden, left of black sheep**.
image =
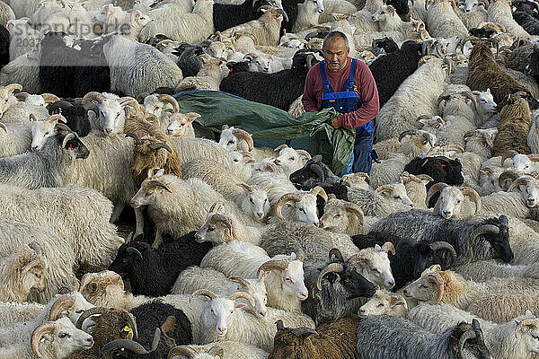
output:
M107 267L123 243L109 223L110 201L93 189L70 185L30 191L2 185L2 197L5 220L33 223L57 232L69 243L77 267ZM75 207L75 212L68 210Z

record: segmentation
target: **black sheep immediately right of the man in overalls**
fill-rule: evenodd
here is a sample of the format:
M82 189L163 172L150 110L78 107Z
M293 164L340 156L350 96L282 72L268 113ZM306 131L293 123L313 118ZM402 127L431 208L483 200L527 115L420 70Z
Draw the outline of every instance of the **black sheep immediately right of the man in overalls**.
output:
M401 48L384 57L376 58L368 66L378 88L380 107L389 101L393 93L418 69L418 62L423 56L423 47L415 41L406 41Z

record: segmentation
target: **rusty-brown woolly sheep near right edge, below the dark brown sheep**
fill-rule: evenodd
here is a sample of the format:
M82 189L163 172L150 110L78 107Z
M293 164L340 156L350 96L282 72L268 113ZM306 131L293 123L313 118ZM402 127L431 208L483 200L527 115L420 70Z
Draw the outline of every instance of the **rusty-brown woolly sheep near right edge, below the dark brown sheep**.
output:
M532 126L530 107L526 92L508 96L508 104L499 112L498 135L494 138L493 154L500 156L510 150L517 153L532 153L527 136Z

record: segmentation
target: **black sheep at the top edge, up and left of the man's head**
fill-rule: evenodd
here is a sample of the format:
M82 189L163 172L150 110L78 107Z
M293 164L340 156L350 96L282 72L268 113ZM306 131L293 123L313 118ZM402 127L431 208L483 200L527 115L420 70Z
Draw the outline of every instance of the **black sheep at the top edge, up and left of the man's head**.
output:
M261 17L261 7L273 5L278 7L275 0L245 0L243 4L219 4L213 6L213 20L216 31L225 31L236 25L251 22Z

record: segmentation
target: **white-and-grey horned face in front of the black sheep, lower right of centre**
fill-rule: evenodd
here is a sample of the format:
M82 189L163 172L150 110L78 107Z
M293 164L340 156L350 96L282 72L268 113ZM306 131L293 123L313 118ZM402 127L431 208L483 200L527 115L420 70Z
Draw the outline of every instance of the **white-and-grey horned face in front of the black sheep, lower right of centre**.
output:
M389 243L389 245L394 253L393 244ZM390 250L389 247L384 245L384 249L382 249L376 244L374 249L359 250L358 254L349 258L349 261L358 268L358 272L365 276L369 282L385 289L391 289L395 285L395 280L387 257L388 250Z

